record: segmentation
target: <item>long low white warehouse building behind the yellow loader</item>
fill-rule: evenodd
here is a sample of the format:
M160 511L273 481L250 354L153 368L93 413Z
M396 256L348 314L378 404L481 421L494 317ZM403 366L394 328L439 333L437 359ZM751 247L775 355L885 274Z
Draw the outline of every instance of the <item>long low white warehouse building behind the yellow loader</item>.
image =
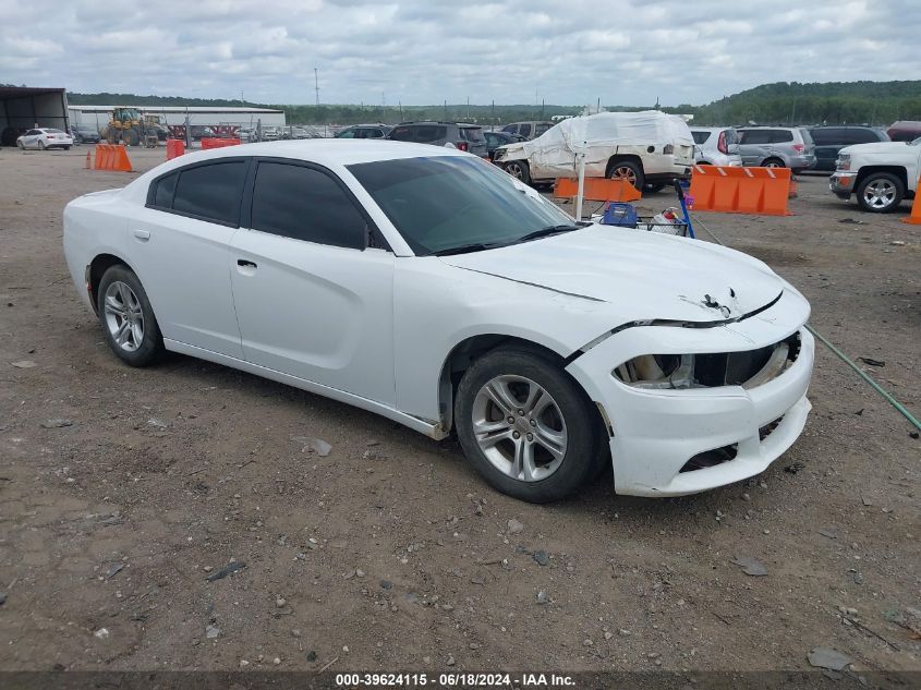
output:
M131 104L120 104L131 106ZM271 108L221 108L216 106L133 106L144 114L156 114L166 125L233 124L238 126L255 128L257 122L265 126L286 126L284 111ZM102 130L108 123L116 106L69 106L71 124L90 126Z

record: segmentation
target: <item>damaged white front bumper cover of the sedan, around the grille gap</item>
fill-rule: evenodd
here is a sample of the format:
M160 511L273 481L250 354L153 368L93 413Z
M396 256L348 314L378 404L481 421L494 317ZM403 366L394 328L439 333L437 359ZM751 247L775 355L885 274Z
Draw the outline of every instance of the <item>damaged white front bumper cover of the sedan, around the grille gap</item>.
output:
M814 339L803 327L809 305L785 291L771 308L711 328L634 326L575 358L567 367L610 423L615 488L634 496L682 496L763 472L797 439L811 409L807 390ZM752 388L638 388L615 367L652 352L743 352L799 334L799 351L775 378Z

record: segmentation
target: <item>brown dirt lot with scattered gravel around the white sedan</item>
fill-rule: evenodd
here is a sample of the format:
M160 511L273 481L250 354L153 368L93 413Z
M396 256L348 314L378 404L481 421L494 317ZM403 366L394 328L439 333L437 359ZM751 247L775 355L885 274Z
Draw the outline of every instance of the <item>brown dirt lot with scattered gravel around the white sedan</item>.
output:
M135 175L84 156L0 150L0 669L805 669L831 647L921 670L921 441L824 348L805 433L756 480L525 505L453 441L183 356L122 365L61 211ZM921 228L799 189L790 217L701 219L917 414Z

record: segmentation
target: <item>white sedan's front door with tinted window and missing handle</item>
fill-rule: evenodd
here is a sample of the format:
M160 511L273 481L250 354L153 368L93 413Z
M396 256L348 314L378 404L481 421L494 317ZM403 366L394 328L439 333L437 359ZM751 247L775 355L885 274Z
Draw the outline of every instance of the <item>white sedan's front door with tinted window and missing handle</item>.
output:
M393 254L373 222L318 166L262 158L247 186L229 266L245 359L392 405Z

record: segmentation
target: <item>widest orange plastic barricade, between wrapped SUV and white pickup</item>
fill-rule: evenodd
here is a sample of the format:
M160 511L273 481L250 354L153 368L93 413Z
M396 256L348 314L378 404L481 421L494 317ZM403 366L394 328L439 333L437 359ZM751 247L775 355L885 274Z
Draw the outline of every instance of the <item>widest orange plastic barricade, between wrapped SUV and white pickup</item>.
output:
M790 169L694 166L688 195L693 210L789 216Z

